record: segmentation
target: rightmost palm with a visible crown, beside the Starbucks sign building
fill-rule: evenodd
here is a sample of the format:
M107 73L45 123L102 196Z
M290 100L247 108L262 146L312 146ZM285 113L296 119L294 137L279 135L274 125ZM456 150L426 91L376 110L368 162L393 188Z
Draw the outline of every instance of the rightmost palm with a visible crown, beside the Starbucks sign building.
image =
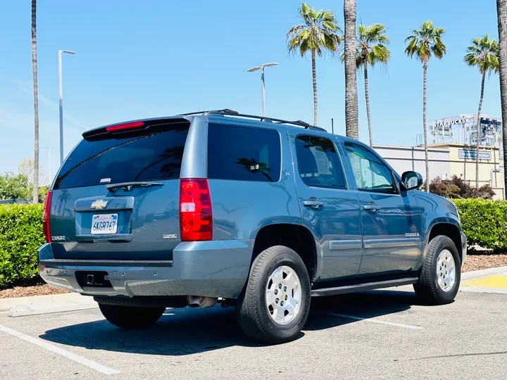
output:
M486 73L497 72L499 68L498 60L499 44L496 39L489 39L487 34L482 39L475 37L472 39L472 45L468 46L465 55L465 63L469 66L477 66L482 74L481 96L479 99L479 109L477 110L477 131L475 139L475 189L479 189L479 144L480 144L480 111L482 108L482 98L484 97L484 80Z

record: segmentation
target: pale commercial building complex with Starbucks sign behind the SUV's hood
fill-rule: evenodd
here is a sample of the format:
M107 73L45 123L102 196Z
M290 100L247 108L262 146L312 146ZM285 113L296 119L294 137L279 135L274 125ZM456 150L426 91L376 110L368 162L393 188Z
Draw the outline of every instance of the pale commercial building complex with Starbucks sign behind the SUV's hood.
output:
M504 198L501 119L482 115L480 122L479 186L489 184L495 198ZM430 181L453 175L475 185L477 115L461 114L434 120L428 125ZM399 172L415 170L426 179L423 134L416 146L374 145L373 148Z

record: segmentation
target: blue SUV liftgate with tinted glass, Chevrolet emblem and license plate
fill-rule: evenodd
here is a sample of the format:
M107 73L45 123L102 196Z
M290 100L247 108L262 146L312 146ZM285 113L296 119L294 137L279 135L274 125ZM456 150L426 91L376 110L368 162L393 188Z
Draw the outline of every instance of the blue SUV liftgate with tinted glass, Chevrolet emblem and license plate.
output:
M179 178L189 125L150 120L85 133L53 186L55 257L172 260L180 242Z

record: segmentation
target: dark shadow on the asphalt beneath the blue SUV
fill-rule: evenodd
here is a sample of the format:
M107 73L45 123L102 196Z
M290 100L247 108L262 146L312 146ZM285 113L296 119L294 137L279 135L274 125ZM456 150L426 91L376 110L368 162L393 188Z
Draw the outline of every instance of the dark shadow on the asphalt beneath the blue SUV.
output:
M370 291L313 298L303 332L357 322L332 314L370 318L408 310L415 305L412 293ZM98 311L97 311L98 312ZM67 346L145 355L190 355L230 346L263 346L244 336L232 308L168 309L148 329L119 329L101 319L46 331L40 338Z

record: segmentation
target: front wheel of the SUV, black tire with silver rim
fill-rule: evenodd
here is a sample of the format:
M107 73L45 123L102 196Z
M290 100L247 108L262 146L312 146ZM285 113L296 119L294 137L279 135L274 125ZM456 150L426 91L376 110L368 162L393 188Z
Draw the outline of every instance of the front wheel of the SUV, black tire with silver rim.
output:
M448 279L446 274L444 274L444 272L447 273L447 264L442 265L442 271L440 270L439 255L443 253L443 255L449 256L448 252L452 255L455 266L453 283L451 281L442 281L442 279ZM448 258L448 260L450 259ZM437 270L439 273L437 273ZM439 277L441 277L440 284ZM446 303L453 302L458 293L460 281L461 260L456 245L447 236L439 235L434 237L432 241L430 241L430 244L428 244L427 254L419 281L417 284L414 284L415 294L425 304L445 305ZM449 286L449 289L444 291L444 289L442 289L442 284L444 284L444 289L446 289L446 286ZM449 284L452 284L452 286Z

